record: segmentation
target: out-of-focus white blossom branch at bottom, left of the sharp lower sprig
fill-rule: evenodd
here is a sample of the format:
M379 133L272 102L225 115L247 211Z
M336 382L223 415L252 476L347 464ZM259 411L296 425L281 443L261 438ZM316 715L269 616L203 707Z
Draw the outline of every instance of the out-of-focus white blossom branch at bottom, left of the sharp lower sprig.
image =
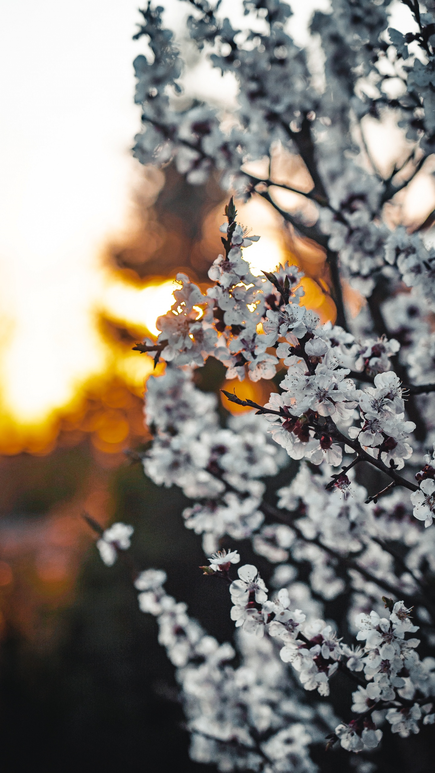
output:
M242 575L238 591L243 593L241 583L251 588L253 578L248 569ZM166 594L165 581L165 572L149 569L139 574L135 587L139 607L157 618L159 642L177 669L190 757L217 764L221 771L255 771L266 761L270 773L289 770L290 764L313 773L308 746L335 724L333 713L329 717L300 700L268 638L241 632L241 662L231 665L233 647L207 635L187 615L186 604Z

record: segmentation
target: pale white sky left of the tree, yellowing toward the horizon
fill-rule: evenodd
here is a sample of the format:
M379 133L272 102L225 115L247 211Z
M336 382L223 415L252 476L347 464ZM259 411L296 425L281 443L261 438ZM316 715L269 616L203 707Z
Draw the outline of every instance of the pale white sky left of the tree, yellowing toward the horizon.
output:
M125 225L137 0L0 6L3 404L32 416L104 368L98 251Z

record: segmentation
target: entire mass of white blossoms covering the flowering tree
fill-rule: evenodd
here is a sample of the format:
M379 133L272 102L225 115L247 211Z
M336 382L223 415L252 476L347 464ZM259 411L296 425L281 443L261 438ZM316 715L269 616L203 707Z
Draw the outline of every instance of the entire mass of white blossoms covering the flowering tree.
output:
M145 164L172 161L190 184L214 174L317 242L337 324L304 305L297 265L251 271L244 250L259 237L231 198L212 286L203 292L178 274L157 339L136 348L165 366L147 383L153 441L143 467L191 500L184 523L209 557L204 584L229 585L235 649L166 594L163 571L142 572L135 586L176 666L195 761L311 773L310 748L327 734L327 747L360 754L357 770L372 773L385 730L408 737L435 720L435 659L423 657L435 646L435 529L423 527L435 513L433 220L406 227L398 196L433 152L435 12L432 0L424 9L405 0L403 35L389 0L331 0L302 48L288 2L241 5L246 23L236 29L221 3L188 0L183 38L148 2L136 36L149 50L135 60L134 153ZM235 104L183 93L189 62L201 58L232 79ZM371 121L402 131L402 156L387 171ZM297 158L310 185L283 182L276 158ZM267 175L252 172L268 159ZM293 203L278 199L279 187ZM343 280L367 298L352 320ZM252 413L223 420L216 395L195 385L210 356L227 379L273 380L268 402L227 393ZM115 524L99 535L106 564L131 533ZM265 580L253 564L238 567L236 540L272 564L269 575L261 565ZM348 681L353 719L335 717L331 679Z

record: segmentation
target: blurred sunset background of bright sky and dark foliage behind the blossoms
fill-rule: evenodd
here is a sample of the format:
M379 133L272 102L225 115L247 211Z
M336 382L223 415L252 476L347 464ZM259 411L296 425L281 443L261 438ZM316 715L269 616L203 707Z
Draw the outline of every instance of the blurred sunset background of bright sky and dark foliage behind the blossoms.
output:
M293 32L304 43L311 9L326 3L296 5ZM183 4L171 0L167 8L178 29ZM165 568L168 591L211 634L231 637L229 601L218 589L204 594L200 541L180 518L186 500L158 489L125 454L150 439L142 404L153 363L132 346L157 335L178 271L203 289L211 284L226 199L216 179L187 186L171 165L144 169L131 156L140 121L132 60L145 46L132 41L138 22L131 0L22 0L0 8L0 737L7 771L35 764L46 773L206 769L187 758L173 669L155 621L139 613L122 565L101 564L84 510L103 526L132 523L138 564ZM212 90L221 104L237 98L231 79L213 78L207 63L194 62L187 94ZM387 175L391 139L397 155L402 135L388 125L368 124L367 132ZM296 157L274 153L283 182L310 187ZM431 171L423 169L413 196L402 199L409 226L435 206ZM262 237L246 254L252 271L299 264L304 304L334 322L323 252L263 201L238 209ZM364 299L349 287L344 297L355 317ZM223 383L216 361L197 371L201 389L218 393ZM264 402L271 389L274 383L248 382L238 393ZM282 475L288 479L289 468Z

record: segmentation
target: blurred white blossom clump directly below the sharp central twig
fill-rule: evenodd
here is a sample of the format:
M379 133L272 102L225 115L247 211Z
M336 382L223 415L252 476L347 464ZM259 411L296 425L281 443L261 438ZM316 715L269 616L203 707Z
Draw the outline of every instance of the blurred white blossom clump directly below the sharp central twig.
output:
M261 526L262 478L276 475L286 455L268 435L269 424L251 414L218 424L214 394L198 390L192 372L166 367L147 385L146 421L154 431L143 455L146 475L158 485L178 485L187 497L204 499L184 510L187 528L204 535L214 553L228 534L241 540Z

